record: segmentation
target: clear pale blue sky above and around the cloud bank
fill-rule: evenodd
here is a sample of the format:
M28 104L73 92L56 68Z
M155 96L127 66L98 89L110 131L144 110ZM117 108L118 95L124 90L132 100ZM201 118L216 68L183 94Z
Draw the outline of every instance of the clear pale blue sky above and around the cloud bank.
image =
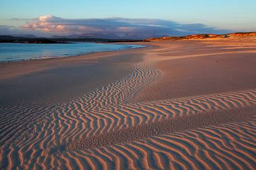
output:
M1 0L0 25L22 27L26 22L32 22L31 20L36 20L40 16L52 15L72 20L117 17L150 18L180 24L201 23L205 27L220 30L255 31L255 9L255 0ZM18 18L18 20L12 20L13 18ZM33 29L42 31L38 28Z

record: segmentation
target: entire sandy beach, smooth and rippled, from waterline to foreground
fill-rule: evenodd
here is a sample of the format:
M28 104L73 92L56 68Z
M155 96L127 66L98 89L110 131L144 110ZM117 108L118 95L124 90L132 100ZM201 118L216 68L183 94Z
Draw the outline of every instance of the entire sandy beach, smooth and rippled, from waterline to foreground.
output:
M2 169L256 169L256 39L0 63Z

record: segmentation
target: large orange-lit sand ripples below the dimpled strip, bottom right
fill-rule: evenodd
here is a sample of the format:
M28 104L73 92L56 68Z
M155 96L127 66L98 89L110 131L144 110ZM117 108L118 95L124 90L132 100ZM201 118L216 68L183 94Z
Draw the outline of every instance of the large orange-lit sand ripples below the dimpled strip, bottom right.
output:
M255 119L212 125L66 157L84 169L255 169L255 125Z

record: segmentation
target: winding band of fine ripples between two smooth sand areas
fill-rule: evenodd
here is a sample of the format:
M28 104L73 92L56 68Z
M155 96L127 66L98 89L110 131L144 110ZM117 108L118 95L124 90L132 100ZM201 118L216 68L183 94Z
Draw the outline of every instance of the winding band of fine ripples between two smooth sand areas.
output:
M145 58L147 61L139 63L130 76L85 94L73 100L73 103L82 104L83 108L91 110L131 102L139 89L159 76L159 72L152 68L154 56L147 55Z

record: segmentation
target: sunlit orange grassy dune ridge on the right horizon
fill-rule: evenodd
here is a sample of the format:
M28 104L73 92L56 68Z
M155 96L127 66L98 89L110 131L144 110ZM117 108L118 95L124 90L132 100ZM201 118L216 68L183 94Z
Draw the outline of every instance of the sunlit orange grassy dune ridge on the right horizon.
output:
M198 35L188 35L182 37L160 37L160 38L148 38L143 41L164 41L164 40L206 40L206 39L216 39L216 38L231 38L231 37L245 37L245 36L256 36L256 32L236 32L228 34L198 34Z

